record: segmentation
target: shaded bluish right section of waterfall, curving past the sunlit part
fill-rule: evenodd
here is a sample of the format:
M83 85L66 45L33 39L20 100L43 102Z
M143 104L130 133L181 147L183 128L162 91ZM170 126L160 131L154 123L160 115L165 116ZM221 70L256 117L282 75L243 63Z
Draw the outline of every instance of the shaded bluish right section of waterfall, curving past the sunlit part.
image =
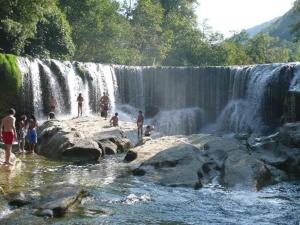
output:
M296 64L203 68L120 66L116 74L121 103L145 109L150 117L158 114L172 120L167 126L158 126L164 132L167 127L167 133L171 134L196 132L186 126L195 123L195 117L188 116L187 121L181 114L183 109L196 107L205 114L204 120L203 117L197 120L199 126L217 122L215 127L225 132L267 133L279 126L284 116L284 102L293 77L293 82L298 82L295 67ZM177 120L171 119L174 114ZM165 119L155 121L163 123Z

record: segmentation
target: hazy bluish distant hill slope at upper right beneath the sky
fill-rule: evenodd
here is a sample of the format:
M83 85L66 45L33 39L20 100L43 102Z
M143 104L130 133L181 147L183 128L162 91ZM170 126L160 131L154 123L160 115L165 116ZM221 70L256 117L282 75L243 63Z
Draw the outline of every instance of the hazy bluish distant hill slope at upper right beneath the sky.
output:
M265 22L247 30L250 36L260 32L268 33L270 36L278 37L281 40L292 41L292 27L300 22L300 13L294 8L290 9L281 17Z

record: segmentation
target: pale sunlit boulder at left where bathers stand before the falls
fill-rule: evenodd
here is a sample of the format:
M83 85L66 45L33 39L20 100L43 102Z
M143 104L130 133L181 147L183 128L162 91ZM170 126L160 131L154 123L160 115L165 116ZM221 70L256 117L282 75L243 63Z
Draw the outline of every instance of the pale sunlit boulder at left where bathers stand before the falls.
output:
M46 121L38 128L37 153L52 159L97 162L104 154L125 152L132 146L119 128L102 126L89 119Z

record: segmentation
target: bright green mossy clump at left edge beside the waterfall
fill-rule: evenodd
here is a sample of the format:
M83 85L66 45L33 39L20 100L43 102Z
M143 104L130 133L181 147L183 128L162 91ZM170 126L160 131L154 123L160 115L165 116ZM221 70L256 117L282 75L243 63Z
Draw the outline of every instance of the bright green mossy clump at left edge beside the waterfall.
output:
M19 105L22 86L21 72L14 55L0 54L0 116Z

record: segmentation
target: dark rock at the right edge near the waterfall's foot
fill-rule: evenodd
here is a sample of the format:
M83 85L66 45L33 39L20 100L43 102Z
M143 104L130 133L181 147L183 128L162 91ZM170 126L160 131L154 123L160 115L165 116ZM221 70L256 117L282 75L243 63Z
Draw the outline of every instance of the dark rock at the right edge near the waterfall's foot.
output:
M300 122L287 123L280 128L280 142L289 147L300 147Z

